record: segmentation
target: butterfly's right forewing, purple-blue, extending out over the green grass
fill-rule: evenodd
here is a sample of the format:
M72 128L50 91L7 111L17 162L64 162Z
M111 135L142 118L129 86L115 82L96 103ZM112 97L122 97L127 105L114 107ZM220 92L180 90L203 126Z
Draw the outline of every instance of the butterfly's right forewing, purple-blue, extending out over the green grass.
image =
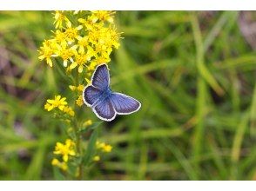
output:
M110 96L111 103L113 108L120 115L128 115L133 112L138 111L141 107L141 103L138 100L134 99L131 96L121 94L121 93L112 93Z

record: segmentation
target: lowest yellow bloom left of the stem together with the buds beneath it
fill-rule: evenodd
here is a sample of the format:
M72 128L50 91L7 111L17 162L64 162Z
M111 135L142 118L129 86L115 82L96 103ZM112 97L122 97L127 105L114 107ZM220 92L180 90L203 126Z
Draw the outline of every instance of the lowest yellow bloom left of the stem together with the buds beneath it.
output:
M75 142L71 141L71 139L67 139L64 144L57 142L53 154L62 155L63 161L59 161L57 158L53 158L51 165L56 166L57 168L61 168L64 171L67 170L67 162L69 161L69 157L76 155Z

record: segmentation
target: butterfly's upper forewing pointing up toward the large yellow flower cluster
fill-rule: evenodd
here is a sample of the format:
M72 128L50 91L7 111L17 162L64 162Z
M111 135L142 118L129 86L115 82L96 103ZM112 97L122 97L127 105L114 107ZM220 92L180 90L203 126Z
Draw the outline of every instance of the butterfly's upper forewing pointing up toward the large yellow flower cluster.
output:
M110 73L105 63L95 69L91 77L91 83L92 86L100 90L104 90L110 86Z

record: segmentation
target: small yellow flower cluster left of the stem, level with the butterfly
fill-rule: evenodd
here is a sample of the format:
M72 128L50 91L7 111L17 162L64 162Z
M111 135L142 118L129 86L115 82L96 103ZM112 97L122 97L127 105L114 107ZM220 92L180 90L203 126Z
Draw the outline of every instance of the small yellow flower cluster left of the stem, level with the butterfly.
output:
M64 113L74 116L75 112L71 107L66 106L68 103L65 102L66 98L61 98L61 95L55 95L55 98L53 100L48 99L47 102L44 104L44 109L47 111L51 111L52 109L59 109L63 111Z

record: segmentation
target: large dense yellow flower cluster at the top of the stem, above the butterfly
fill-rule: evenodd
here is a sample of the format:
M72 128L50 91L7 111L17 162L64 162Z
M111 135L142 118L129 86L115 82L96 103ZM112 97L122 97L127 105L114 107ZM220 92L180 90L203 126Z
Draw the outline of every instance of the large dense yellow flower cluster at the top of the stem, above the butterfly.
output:
M84 67L92 71L100 63L109 63L120 38L113 23L114 14L107 10L56 11L54 36L44 41L38 58L45 59L51 67L53 57L61 58L67 70L77 68L79 73Z

